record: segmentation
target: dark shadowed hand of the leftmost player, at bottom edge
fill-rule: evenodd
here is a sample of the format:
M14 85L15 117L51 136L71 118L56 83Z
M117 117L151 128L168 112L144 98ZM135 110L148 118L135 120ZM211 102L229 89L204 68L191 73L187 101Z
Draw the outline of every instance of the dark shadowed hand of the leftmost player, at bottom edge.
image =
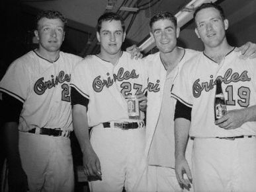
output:
M8 185L11 192L26 192L28 191L28 179L24 170L21 167L8 168Z

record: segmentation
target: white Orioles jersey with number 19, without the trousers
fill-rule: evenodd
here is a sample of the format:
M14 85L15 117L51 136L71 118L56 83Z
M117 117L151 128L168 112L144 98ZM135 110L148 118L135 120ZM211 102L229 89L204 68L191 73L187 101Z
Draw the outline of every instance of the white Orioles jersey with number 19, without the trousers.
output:
M231 51L218 65L204 53L183 65L172 96L192 108L191 137L235 137L256 135L256 122L246 122L232 130L214 124L215 80L222 80L227 110L239 110L256 104L256 59L239 59Z

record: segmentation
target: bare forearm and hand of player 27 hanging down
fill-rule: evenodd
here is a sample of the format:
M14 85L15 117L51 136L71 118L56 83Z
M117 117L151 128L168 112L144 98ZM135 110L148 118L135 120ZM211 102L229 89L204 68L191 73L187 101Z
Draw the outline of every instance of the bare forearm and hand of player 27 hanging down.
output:
M72 109L75 136L83 152L83 167L87 176L101 179L101 164L89 140L89 126L87 122L87 107L75 104Z

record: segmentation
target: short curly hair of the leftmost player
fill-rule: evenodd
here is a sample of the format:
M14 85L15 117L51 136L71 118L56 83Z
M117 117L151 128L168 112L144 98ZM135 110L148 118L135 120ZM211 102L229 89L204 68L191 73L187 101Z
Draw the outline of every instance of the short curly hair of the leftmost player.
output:
M35 21L35 28L38 28L38 21L41 18L60 18L60 20L62 20L62 22L64 22L64 26L67 23L67 18L62 15L62 13L60 13L59 11L40 11L40 13L38 13L38 15L36 15L36 21Z

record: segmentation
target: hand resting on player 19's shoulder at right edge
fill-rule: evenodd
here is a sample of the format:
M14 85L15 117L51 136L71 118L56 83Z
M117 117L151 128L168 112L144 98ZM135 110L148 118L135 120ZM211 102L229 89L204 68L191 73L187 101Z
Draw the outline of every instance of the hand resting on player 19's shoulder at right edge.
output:
M256 58L256 44L251 42L247 42L243 46L235 48L235 51L241 51L241 55L239 56L241 59Z

